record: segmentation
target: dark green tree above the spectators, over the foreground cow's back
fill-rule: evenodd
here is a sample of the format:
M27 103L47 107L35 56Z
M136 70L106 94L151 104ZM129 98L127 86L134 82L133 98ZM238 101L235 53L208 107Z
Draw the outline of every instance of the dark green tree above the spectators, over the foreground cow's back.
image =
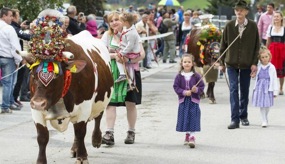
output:
M103 0L71 0L71 3L76 6L77 12L95 14L96 16L104 15Z

